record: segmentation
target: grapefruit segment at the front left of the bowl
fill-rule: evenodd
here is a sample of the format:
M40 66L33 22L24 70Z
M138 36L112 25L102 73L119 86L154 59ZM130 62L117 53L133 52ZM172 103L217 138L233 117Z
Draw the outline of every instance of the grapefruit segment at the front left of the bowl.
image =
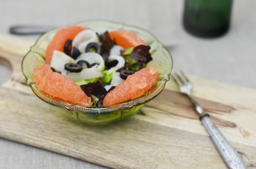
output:
M48 64L35 68L33 79L39 90L53 97L85 107L91 106L91 98L83 92L80 86L66 76L53 72Z

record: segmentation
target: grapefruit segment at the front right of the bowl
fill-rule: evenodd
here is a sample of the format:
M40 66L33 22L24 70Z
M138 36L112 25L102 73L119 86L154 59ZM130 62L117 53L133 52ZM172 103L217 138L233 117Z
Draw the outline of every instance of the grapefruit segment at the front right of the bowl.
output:
M155 68L146 67L127 77L115 89L111 90L103 100L103 106L111 106L143 95L158 79Z

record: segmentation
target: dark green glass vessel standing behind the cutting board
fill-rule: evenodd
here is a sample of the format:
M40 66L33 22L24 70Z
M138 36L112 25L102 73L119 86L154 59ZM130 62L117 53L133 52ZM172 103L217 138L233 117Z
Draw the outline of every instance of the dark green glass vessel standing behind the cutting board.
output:
M199 37L219 37L229 29L232 0L185 0L184 28Z

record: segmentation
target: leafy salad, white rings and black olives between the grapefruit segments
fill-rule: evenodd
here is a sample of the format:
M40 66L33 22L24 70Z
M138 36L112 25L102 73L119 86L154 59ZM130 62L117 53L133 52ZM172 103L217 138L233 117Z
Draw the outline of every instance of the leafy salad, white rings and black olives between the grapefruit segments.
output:
M98 34L86 29L67 40L64 53L55 50L50 65L91 97L91 107L102 107L109 91L152 60L149 51L148 45L124 49L109 32Z

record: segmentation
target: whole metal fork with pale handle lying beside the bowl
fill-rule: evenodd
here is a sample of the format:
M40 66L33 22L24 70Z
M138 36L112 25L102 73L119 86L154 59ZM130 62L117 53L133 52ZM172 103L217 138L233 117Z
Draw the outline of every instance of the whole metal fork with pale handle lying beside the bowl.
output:
M174 73L171 78L178 85L179 91L182 94L188 96L189 100L194 106L196 114L199 115L201 122L203 123L205 129L208 131L211 139L213 140L216 148L218 149L221 157L230 169L244 169L247 168L242 158L238 155L237 151L229 144L228 140L221 134L219 129L213 124L210 119L209 114L207 114L203 107L201 107L196 100L191 95L193 85L190 83L189 79L185 74L180 71L180 73Z

